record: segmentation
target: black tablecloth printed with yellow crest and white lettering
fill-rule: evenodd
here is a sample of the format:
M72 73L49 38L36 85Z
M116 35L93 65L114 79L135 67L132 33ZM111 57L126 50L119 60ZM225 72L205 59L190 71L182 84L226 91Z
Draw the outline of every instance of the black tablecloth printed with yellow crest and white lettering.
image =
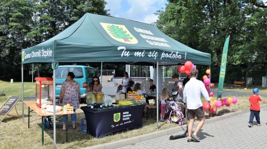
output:
M142 127L144 104L102 111L92 110L87 106L83 106L81 109L86 118L87 133L96 138L126 129Z

